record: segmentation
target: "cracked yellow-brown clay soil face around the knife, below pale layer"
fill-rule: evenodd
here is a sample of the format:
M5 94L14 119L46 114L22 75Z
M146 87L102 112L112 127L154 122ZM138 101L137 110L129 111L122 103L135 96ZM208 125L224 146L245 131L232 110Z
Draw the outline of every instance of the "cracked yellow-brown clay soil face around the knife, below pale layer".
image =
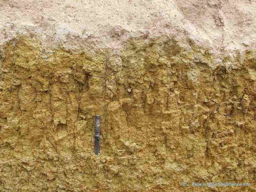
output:
M4 44L1 191L213 191L181 182L250 182L256 53L218 54L169 36L122 50ZM101 115L100 156L94 116Z

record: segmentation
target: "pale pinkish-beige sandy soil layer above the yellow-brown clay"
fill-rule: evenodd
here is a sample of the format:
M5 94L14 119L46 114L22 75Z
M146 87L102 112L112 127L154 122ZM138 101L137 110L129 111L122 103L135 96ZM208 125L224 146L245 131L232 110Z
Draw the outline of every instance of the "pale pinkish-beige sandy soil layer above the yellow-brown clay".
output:
M256 41L254 0L5 0L0 40L32 34L45 46L121 48L131 37L168 34L214 50Z

